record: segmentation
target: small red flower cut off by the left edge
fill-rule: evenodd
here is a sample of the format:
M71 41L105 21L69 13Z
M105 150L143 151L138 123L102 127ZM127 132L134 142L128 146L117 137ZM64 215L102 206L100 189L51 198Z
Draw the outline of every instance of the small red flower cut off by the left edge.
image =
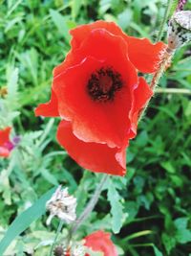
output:
M0 130L0 157L9 157L13 148L13 144L10 141L11 128L5 128Z

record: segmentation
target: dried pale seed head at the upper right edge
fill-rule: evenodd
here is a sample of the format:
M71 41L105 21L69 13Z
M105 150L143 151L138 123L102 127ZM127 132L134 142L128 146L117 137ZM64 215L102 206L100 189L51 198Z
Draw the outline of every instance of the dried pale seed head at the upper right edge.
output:
M168 48L172 51L191 40L191 11L175 12L168 24Z

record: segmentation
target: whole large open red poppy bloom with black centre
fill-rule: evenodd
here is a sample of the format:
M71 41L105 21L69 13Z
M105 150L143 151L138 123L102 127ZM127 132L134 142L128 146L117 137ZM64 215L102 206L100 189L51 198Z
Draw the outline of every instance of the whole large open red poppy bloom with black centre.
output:
M153 73L165 45L125 35L105 21L79 26L71 35L71 51L53 70L51 101L35 114L62 118L58 142L83 168L125 175L126 148L153 95L138 71Z

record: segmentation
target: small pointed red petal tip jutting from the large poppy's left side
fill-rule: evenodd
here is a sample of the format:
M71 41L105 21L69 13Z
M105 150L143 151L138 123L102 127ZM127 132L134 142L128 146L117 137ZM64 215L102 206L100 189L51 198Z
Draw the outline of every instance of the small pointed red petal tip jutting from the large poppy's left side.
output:
M57 108L57 98L52 90L52 96L49 103L38 105L35 110L35 116L46 116L46 117L56 117L59 116Z

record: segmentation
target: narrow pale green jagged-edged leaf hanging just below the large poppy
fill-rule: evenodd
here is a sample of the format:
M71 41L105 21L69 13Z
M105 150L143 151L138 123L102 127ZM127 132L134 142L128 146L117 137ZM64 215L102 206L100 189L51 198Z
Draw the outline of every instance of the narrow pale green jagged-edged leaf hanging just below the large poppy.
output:
M115 184L111 179L108 182L107 197L111 204L112 230L115 234L117 234L122 226L123 206L120 203L120 197L118 195Z

